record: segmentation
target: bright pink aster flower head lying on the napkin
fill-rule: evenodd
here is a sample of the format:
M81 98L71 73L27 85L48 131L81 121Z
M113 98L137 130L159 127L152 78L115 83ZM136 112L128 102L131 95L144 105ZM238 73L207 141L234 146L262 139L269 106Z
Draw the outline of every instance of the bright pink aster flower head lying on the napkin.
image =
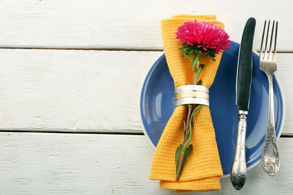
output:
M229 35L221 27L205 21L185 22L178 28L176 35L181 43L197 46L205 51L211 49L218 54L229 49L231 45Z

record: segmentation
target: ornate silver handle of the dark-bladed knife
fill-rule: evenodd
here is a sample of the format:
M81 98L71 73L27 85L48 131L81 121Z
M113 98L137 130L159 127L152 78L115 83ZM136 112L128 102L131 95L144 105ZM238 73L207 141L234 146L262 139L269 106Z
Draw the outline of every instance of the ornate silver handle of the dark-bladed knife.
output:
M247 126L247 111L238 111L238 130L234 159L231 167L230 179L236 190L240 190L246 179L245 136Z

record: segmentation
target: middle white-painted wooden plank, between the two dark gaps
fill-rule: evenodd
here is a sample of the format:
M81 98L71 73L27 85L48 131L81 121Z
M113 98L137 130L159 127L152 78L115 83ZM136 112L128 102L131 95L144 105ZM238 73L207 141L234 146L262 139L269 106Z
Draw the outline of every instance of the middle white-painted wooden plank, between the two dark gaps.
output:
M142 132L141 83L161 52L0 50L0 129ZM293 54L278 54L293 133Z

